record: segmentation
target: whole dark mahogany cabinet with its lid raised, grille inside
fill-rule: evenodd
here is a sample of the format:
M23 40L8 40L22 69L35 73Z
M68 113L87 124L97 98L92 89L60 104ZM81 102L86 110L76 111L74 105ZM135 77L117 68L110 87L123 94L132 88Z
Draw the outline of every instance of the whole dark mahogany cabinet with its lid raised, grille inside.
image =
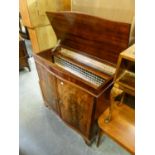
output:
M45 104L91 142L109 104L119 53L130 24L75 12L47 12L56 48L34 54Z

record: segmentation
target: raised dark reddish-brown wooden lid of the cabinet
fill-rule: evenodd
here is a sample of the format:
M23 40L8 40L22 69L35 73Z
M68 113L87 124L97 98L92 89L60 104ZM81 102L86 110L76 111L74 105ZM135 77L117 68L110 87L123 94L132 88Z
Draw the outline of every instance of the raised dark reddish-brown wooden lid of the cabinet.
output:
M130 24L76 12L46 12L63 47L116 64L128 47Z

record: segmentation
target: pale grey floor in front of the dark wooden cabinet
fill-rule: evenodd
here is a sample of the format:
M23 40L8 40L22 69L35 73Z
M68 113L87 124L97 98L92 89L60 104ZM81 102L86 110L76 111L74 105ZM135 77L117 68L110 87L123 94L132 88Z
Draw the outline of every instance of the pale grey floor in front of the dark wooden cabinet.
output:
M129 155L121 146L103 136L99 148L88 147L82 137L46 108L41 96L33 58L32 71L20 71L20 155Z

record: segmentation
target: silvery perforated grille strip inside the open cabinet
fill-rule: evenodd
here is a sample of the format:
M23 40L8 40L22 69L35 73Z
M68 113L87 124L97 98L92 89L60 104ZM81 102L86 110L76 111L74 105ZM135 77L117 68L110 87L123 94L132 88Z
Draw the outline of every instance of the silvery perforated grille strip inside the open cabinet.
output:
M76 66L62 58L54 57L54 62L59 65L60 67L63 67L67 71L75 74L76 76L94 84L95 86L101 86L105 80L79 66Z

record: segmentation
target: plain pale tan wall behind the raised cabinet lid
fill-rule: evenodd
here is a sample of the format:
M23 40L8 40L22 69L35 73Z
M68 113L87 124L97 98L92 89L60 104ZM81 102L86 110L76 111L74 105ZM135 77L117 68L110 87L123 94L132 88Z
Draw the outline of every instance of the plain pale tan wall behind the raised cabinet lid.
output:
M72 10L131 23L135 14L135 0L72 0Z

